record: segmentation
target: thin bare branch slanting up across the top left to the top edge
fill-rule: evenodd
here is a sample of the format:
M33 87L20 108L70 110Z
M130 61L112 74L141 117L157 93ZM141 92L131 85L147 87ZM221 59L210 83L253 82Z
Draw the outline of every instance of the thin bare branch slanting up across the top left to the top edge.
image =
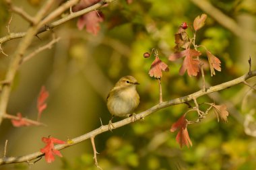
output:
M48 17L46 17L42 21L42 24L46 24L46 26L42 26L38 30L37 34L52 30L53 28L55 28L57 26L60 26L61 24L65 23L65 22L68 22L69 20L71 20L75 17L79 17L79 16L84 15L85 13L88 13L90 11L94 11L94 10L102 7L106 3L112 3L113 1L115 1L115 0L102 0L102 1L92 5L90 7L82 9L81 11L72 12L69 15L67 15L66 17L63 17L63 18L61 18L61 19L59 19L55 22L52 22L51 24L47 24L46 22L49 22L53 18L53 15L49 15ZM56 11L55 15L57 15L57 14L59 15L59 13L57 13L57 11ZM11 33L8 36L4 36L4 37L0 38L0 44L3 44L4 42L7 42L9 40L13 40L13 39L16 39L16 38L22 38L22 37L26 36L26 34L27 34L27 32Z

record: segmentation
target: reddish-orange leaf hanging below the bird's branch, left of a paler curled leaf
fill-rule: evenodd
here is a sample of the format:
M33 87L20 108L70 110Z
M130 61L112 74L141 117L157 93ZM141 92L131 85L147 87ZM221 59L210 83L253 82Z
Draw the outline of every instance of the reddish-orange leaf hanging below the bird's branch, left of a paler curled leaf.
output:
M185 114L177 120L174 124L172 124L172 128L170 128L170 132L174 132L179 129L179 132L176 136L176 141L180 144L181 148L183 145L192 146L192 142L189 138L189 132L187 131L187 119L185 119Z

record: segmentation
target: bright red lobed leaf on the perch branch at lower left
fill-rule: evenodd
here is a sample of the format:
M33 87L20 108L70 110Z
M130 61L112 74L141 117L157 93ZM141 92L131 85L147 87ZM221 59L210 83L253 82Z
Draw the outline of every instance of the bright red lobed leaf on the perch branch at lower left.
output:
M54 144L65 144L65 141L49 136L49 138L42 137L42 142L44 142L46 146L41 148L40 152L44 153L46 163L55 161L54 155L62 157L61 152L55 149Z

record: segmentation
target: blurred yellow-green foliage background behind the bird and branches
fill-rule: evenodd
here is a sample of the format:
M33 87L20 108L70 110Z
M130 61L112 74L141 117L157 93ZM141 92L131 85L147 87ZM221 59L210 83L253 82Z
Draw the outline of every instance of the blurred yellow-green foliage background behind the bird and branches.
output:
M44 1L14 1L31 15ZM127 3L114 1L100 11L104 22L93 35L77 29L77 19L54 28L61 40L50 50L44 50L21 65L13 84L7 112L36 120L36 99L42 85L49 91L48 107L42 113L44 126L15 128L9 120L0 126L0 155L3 156L8 140L7 156L21 156L44 147L42 136L61 140L74 138L108 124L110 114L106 96L115 82L124 75L133 75L140 83L137 91L140 104L136 113L156 105L159 101L158 81L148 75L154 57L143 58L144 52L158 50L160 59L169 65L163 73L164 101L188 95L201 88L201 77L179 75L182 60L168 61L173 52L174 34L182 22L193 25L201 13L208 15L205 26L197 32L196 44L202 44L220 58L222 71L211 77L205 70L207 86L217 85L240 77L249 71L248 60L256 66L256 39L245 34L256 34L256 1L226 0L201 1L212 6L200 7L195 0L141 0ZM218 9L233 19L241 34L223 26L209 13ZM68 11L67 11L68 12ZM12 15L11 32L26 32L28 23L15 13L11 14L0 1L0 36L6 36ZM193 33L191 32L191 37ZM51 41L51 32L34 38L26 54ZM20 39L2 44L9 56L0 54L0 78L4 79L11 54ZM203 49L200 49L203 50ZM207 59L205 52L201 58ZM248 81L255 85L255 78ZM193 142L191 148L179 147L170 127L187 112L187 105L174 105L160 110L145 120L96 136L98 163L102 169L256 169L255 91L246 85L236 85L210 96L199 97L198 102L226 104L228 122L218 122L214 113L197 124L188 126ZM191 103L193 105L193 103ZM191 116L191 119L195 118ZM121 120L115 118L114 122ZM1 165L0 169L96 169L90 140L61 151L48 164L44 158L35 165L19 163Z

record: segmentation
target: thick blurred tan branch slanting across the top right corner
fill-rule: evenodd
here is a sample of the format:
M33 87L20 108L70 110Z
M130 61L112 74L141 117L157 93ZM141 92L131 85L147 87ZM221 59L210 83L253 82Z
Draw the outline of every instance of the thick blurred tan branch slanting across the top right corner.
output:
M239 38L250 40L251 42L256 42L256 32L251 30L245 30L238 26L238 24L234 21L234 19L228 17L222 11L214 7L209 1L206 0L190 0L192 3L197 5L197 7L201 8L205 13L211 15L212 18L216 20L220 25L224 26L232 32L234 35Z

